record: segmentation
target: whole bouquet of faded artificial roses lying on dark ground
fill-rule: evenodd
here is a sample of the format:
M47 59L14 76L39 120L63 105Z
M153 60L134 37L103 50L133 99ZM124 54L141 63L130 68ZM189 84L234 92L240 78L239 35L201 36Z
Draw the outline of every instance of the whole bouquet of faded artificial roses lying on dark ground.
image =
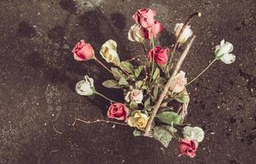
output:
M165 147L171 139L176 139L179 142L180 154L194 157L199 143L203 141L204 133L197 126L184 124L190 102L190 94L185 87L198 79L213 62L219 60L226 64L235 62L235 56L231 54L233 45L223 39L221 44L216 46L213 62L188 83L185 72L180 69L195 38L190 29L190 22L194 16L201 16L201 13L195 12L184 24L175 25L176 42L172 45L171 51L169 48L156 45L162 25L154 19L154 16L156 12L149 8L139 9L132 16L135 25L130 27L128 39L141 44L144 48L144 54L139 54L132 60L120 60L117 43L112 39L107 40L99 52L106 62L112 64L110 68L98 60L94 48L89 43L85 43L85 40L80 40L72 51L77 61L92 59L103 66L110 77L103 82L103 86L109 89L122 89L123 102L113 101L98 93L94 87L94 80L88 75L75 85L75 90L83 96L98 94L111 103L107 117L118 122L106 122L129 125L134 128L135 136L153 137ZM174 62L176 48L180 46L185 46L184 52L178 57L177 62ZM80 119L75 121L77 120L82 121ZM98 121L104 120L84 122Z

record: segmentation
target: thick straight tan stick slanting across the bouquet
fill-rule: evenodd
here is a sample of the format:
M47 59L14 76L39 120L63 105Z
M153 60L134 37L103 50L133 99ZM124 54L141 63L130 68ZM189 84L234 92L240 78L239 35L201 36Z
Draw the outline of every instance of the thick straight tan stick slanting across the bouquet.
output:
M149 136L149 130L151 129L151 125L153 123L154 117L157 115L158 108L161 106L163 98L165 98L165 96L167 95L167 92L168 92L173 80L175 79L176 74L180 70L182 63L183 63L185 57L187 56L192 43L194 42L194 38L195 38L195 36L192 37L192 39L190 40L190 43L187 44L184 52L181 54L181 57L180 57L179 61L177 62L176 67L175 67L170 79L167 81L167 84L165 85L164 89L162 90L162 93L160 94L158 102L154 105L153 112L150 115L148 124L146 125L146 128L145 128L144 136Z

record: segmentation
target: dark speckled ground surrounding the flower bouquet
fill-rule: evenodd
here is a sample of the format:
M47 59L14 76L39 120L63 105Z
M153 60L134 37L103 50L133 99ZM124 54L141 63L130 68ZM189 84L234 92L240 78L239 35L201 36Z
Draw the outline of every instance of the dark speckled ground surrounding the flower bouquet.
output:
M205 130L194 158L178 157L176 141L163 148L154 139L134 137L128 126L72 126L75 117L106 118L107 101L75 93L84 75L112 99L122 101L122 93L103 88L110 75L93 61L76 62L71 49L85 39L98 55L101 45L114 39L122 60L143 52L127 39L131 16L141 7L157 11L164 26L159 43L169 48L174 25L202 12L192 22L197 37L182 67L189 80L213 60L222 39L235 46L235 63L216 62L188 88L185 123ZM2 0L0 163L254 164L255 16L255 0Z

